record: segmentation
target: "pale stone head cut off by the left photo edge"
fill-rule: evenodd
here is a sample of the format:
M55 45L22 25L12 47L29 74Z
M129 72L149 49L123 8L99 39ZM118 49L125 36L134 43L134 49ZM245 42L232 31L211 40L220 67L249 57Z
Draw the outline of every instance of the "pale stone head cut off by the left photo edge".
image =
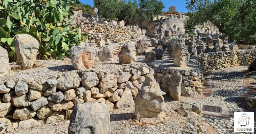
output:
M7 75L10 70L8 52L0 46L0 76Z

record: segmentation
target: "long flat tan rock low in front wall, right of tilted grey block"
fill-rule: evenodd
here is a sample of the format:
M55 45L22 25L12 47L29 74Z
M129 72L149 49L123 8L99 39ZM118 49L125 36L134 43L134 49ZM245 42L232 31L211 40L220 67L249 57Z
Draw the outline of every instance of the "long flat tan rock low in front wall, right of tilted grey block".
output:
M51 110L53 111L62 111L62 110L68 110L73 108L74 104L72 101L60 102L60 103L49 102L48 106L50 106Z

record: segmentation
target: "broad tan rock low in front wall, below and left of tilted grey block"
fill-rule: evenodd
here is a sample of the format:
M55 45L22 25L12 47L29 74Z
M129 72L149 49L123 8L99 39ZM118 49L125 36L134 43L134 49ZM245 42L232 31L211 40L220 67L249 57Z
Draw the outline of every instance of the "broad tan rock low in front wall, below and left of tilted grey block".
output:
M13 112L12 118L17 120L27 120L33 118L36 115L36 112L31 108L18 108Z

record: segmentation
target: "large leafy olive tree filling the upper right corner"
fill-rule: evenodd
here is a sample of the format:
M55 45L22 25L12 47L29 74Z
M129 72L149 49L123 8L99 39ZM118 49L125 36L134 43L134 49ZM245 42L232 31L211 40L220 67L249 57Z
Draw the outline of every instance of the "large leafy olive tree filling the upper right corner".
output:
M187 30L204 27L207 22L237 41L256 41L256 0L186 0Z

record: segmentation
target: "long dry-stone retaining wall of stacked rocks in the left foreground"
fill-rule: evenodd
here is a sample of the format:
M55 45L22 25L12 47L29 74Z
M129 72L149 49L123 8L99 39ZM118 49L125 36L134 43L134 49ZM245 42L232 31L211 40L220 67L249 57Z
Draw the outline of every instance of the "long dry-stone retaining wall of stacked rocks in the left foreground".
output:
M46 124L63 121L81 103L104 102L109 110L134 106L146 77L154 75L154 70L146 64L106 66L106 69L58 73L39 81L27 80L26 73L22 78L20 75L9 78L0 85L0 119L20 122L18 128L25 129L24 121L44 120ZM40 75L44 77L45 72Z

